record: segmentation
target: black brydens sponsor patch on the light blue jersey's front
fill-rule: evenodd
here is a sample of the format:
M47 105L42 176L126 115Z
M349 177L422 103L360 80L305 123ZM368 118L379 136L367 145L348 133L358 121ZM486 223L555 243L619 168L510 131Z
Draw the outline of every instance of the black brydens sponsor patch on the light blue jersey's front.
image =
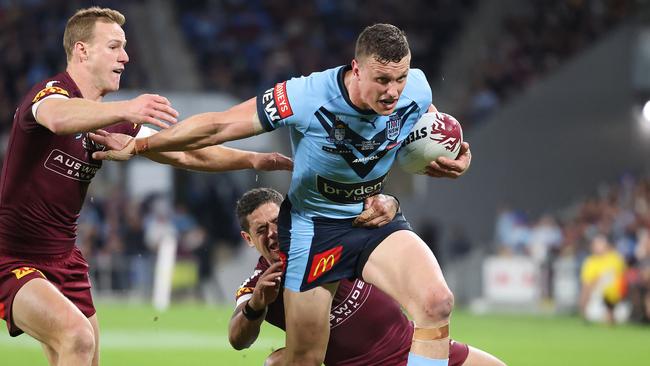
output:
M385 178L386 175L383 175L366 182L341 183L318 175L316 176L316 186L318 187L318 192L330 201L358 203L380 193L384 188Z

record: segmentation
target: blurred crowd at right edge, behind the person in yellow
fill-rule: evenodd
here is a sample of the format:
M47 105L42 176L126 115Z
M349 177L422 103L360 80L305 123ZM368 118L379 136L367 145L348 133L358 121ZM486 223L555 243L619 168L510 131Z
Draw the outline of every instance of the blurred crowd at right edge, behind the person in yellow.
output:
M622 295L632 318L650 321L650 179L624 175L597 193L556 214L527 217L504 207L496 219L495 242L502 255L525 255L546 270L545 295L552 296L552 263L574 258L581 268L592 256L592 241L604 236L625 262ZM578 274L576 274L577 276Z

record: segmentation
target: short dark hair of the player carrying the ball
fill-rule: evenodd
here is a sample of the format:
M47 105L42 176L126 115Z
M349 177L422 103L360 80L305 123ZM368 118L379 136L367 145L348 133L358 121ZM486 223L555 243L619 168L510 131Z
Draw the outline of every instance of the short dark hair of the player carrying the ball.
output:
M366 27L357 38L354 58L373 56L377 61L387 64L400 62L410 53L406 34L392 24L379 23Z

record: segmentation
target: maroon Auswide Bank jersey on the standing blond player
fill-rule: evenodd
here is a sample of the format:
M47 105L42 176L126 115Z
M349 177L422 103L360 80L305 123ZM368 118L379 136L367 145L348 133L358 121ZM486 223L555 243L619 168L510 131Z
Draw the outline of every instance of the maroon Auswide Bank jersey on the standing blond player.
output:
M35 85L14 115L0 181L0 252L62 255L74 246L88 184L102 164L91 154L101 147L86 133L56 135L36 122L33 105L55 95L83 97L64 72ZM106 128L131 136L139 129Z

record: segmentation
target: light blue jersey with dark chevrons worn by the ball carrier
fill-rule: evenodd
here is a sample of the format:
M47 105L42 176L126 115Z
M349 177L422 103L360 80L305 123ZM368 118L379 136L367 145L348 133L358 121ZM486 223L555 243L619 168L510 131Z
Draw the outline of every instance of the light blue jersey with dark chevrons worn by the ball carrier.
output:
M257 98L267 131L290 129L294 169L293 209L306 217L351 218L363 201L381 192L397 150L431 105L424 73L409 70L390 116L364 111L350 101L343 83L350 66L293 78Z

